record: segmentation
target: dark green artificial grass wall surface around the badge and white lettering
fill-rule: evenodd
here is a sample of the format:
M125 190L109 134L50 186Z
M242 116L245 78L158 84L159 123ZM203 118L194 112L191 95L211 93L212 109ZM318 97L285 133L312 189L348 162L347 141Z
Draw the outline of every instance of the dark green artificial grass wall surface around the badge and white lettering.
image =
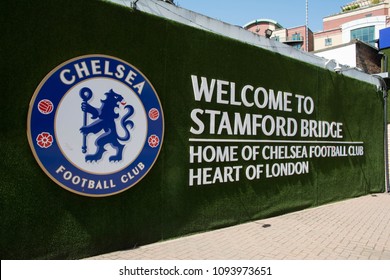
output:
M101 1L6 0L0 15L1 259L83 258L383 190L383 103L372 85ZM137 67L153 84L164 110L164 142L151 171L129 190L103 198L80 196L54 183L36 162L26 134L29 103L39 83L64 61L88 54L118 57ZM199 83L205 77L209 85L219 80L224 90L233 86L237 98L247 85L291 93L291 110L224 104L215 96L211 102L197 101L191 76ZM299 113L297 95L309 97L314 111ZM229 96L231 92L221 98L232 103ZM200 128L194 109L227 112L231 120L237 113L340 122L343 135L320 139L298 131L291 137L240 136L229 135L226 127L211 133L205 113L198 115L204 131L196 134ZM364 154L243 160L240 152L253 146L317 144L198 138L361 141ZM230 153L228 162L191 163L191 146L233 147L239 154ZM275 163L303 161L309 169L300 175L248 179L245 173L257 165L264 171ZM226 167L225 176L232 166L242 166L233 173L239 178L190 186L190 172L198 168Z

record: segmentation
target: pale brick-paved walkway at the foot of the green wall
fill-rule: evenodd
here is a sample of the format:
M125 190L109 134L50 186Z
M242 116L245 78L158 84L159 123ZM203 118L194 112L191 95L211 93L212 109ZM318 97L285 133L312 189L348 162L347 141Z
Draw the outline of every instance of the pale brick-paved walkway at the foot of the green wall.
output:
M92 260L390 260L390 194L118 251Z

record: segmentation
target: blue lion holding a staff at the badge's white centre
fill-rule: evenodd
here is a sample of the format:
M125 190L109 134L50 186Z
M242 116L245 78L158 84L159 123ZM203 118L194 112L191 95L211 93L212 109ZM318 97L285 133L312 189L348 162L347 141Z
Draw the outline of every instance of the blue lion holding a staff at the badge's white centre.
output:
M95 141L97 147L95 154L85 156L85 161L98 161L102 158L104 152L106 152L105 145L110 144L116 151L116 155L110 156L110 161L122 160L123 148L119 141L128 141L130 139L130 129L134 127L134 123L129 118L134 114L134 108L131 105L126 105L125 110L127 113L121 119L121 126L125 131L125 136L120 137L118 135L115 119L119 117L118 113L115 113L115 109L119 108L119 103L123 101L123 97L115 93L112 89L105 93L106 99L100 100L101 107L95 108L88 104L88 100L92 97L92 91L89 88L83 88L80 90L80 96L83 99L81 103L81 110L84 112L84 125L80 128L80 132L83 134L83 153L86 153L86 137L88 134L97 134L100 131L104 131ZM122 103L126 104L125 102ZM92 119L96 119L92 123L87 125L87 114L92 115Z

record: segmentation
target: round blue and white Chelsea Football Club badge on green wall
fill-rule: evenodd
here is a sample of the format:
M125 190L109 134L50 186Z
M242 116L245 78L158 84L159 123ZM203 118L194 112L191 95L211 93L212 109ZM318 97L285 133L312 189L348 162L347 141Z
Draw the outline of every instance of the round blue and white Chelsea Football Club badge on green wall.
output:
M45 173L85 196L129 189L152 168L162 146L163 111L148 79L115 57L64 62L39 84L28 139Z

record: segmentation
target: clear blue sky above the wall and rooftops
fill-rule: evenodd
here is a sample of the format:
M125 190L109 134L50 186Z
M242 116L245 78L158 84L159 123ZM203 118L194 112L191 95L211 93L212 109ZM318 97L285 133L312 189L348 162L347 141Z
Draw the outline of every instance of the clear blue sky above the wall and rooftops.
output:
M291 28L306 24L306 0L176 0L185 8L224 22L243 26L259 18ZM309 28L322 30L322 18L339 13L352 0L308 0Z

